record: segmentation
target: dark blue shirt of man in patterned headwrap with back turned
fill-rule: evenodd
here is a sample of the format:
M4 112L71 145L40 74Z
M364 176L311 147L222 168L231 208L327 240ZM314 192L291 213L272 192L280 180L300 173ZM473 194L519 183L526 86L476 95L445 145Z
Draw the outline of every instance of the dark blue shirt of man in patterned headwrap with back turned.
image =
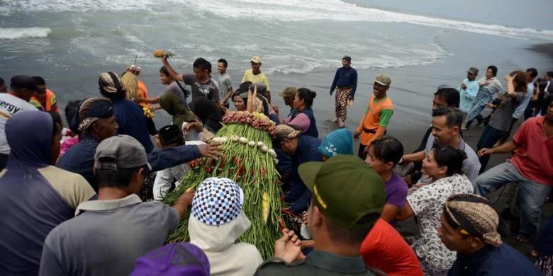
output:
M152 151L154 144L150 140L150 132L146 127L146 118L142 108L137 103L124 98L113 98L111 101L113 102L113 113L119 124L119 134L137 139L144 146L146 152Z

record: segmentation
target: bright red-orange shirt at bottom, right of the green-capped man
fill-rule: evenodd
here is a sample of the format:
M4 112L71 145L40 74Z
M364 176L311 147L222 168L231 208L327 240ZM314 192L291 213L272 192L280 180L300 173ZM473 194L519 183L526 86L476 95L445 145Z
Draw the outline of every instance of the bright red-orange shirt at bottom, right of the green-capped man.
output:
M384 219L379 219L361 244L367 266L388 275L423 276L417 255L401 235Z

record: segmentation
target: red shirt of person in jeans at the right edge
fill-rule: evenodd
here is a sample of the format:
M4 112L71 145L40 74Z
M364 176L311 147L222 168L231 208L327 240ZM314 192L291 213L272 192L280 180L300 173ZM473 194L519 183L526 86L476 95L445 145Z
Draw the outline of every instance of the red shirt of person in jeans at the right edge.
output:
M532 117L520 125L513 137L513 142L520 148L510 163L525 178L553 186L553 138L545 136L544 121L543 116Z

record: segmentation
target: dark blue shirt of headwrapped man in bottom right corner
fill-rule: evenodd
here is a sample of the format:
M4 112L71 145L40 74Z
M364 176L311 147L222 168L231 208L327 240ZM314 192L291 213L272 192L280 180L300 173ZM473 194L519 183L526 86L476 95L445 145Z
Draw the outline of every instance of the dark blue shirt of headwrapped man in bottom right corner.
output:
M502 243L501 246L486 246L471 255L457 253L457 260L447 273L457 275L542 275L523 254Z

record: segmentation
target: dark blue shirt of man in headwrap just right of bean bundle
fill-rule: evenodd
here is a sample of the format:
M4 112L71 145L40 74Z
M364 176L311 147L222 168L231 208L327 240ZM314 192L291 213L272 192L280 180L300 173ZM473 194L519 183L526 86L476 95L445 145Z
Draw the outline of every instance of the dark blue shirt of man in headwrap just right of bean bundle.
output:
M284 201L291 203L291 212L300 214L305 211L311 201L311 191L306 188L298 174L298 167L309 161L323 161L318 151L320 140L301 134L298 137L296 152L291 156L290 191L284 197Z

